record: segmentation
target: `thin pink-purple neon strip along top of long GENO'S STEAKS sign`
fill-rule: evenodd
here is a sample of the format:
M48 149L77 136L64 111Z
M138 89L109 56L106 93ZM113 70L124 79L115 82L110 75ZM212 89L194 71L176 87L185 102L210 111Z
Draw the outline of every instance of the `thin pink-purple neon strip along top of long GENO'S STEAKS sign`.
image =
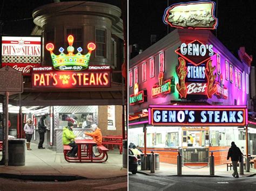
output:
M239 108L240 109L240 108L246 108L246 105L149 105L149 108Z

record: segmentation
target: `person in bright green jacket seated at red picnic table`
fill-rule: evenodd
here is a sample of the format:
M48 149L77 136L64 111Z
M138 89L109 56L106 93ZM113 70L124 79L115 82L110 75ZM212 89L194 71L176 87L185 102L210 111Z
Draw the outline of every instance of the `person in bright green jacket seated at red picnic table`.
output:
M75 143L76 136L74 135L72 129L73 129L73 123L69 122L68 126L65 126L65 128L63 129L62 142L63 142L63 145L69 145L72 147L71 151L66 155L68 157L77 157L76 153L78 150L78 146Z

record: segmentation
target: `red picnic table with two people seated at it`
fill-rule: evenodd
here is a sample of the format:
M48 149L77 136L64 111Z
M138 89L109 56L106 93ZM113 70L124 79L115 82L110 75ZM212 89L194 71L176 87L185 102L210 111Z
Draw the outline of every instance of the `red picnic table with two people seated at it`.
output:
M76 139L75 140L78 151L77 157L68 157L66 154L71 150L69 145L64 145L64 157L68 162L105 162L108 158L107 151L109 151L103 145L97 145L94 140L91 139ZM92 152L92 147L97 146L99 154Z

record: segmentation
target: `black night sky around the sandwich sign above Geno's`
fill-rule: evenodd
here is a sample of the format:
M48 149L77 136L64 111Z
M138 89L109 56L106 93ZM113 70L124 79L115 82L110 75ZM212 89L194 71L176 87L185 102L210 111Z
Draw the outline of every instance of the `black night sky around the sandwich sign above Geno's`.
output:
M169 6L180 2L191 1L169 0ZM156 34L158 40L166 36L163 15L167 3L167 0L129 0L129 45L139 44L145 50L150 46L151 34ZM256 1L218 0L217 3L217 38L235 56L239 47L245 46L246 52L256 59ZM174 29L169 27L169 31Z

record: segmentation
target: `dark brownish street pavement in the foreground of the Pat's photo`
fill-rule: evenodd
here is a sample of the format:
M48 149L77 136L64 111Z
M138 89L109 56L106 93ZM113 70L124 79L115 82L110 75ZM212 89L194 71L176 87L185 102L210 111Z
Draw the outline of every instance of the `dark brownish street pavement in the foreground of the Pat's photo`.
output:
M84 191L84 190L127 190L127 175L107 179L83 179L75 181L32 181L0 178L1 191Z

